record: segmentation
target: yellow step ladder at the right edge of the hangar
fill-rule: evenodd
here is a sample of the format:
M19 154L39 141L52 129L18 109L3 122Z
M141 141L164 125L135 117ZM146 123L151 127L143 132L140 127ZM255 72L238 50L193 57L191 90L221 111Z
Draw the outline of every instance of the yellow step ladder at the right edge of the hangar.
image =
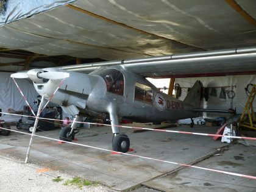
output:
M249 94L243 113L239 120L239 127L247 127L256 130L256 118L254 113L254 98L256 95L256 85L252 87L252 91Z

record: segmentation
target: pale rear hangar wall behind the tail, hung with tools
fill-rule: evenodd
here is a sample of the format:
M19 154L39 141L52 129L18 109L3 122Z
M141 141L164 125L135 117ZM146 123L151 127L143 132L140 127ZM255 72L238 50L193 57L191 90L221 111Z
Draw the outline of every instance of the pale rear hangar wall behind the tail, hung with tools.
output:
M235 91L235 97L233 98L233 109L236 108L236 113L242 113L244 109L244 105L247 101L247 95L244 88L246 88L247 84L256 84L256 76L255 75L243 75L243 76L223 76L223 77L193 77L193 78L180 78L176 79L176 84L180 84L182 88L182 94L180 96L180 100L183 100L188 91L188 87L192 87L196 80L201 80L204 87L226 87L235 85L233 88ZM231 90L231 87L226 87L226 91ZM209 88L209 93L211 89ZM231 107L232 99L229 99L226 96L226 99L219 98L221 94L221 88L216 88L216 97L209 95L208 102L204 99L204 107L206 108L221 108L228 109ZM256 107L256 102L254 102L254 107ZM219 116L219 115L218 115Z

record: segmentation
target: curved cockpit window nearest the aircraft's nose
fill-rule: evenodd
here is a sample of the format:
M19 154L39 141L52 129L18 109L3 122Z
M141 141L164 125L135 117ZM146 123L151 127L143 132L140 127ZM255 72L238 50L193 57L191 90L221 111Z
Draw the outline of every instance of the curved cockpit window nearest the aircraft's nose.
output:
M105 69L98 73L103 77L107 86L107 91L119 95L124 95L124 75L117 69Z

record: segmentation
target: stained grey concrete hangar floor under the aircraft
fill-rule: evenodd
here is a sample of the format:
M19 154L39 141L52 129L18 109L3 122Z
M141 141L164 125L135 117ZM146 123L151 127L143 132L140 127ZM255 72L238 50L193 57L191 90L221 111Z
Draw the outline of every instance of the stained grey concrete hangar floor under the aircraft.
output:
M167 129L215 133L218 128L179 126ZM60 130L51 130L37 134L59 138L59 132ZM196 166L205 168L256 176L256 149L243 144L221 143L219 140L213 141L211 137L199 135L152 131L132 133L131 129L121 129L121 132L127 133L130 138L130 148L134 150L130 154L169 162L196 163ZM1 155L24 161L29 138L29 135L15 132L8 137L0 137ZM112 131L107 126L82 129L76 138L76 143L112 149ZM118 191L135 188L134 191L146 191L140 185L160 191L256 191L256 180L227 174L112 154L68 143L59 144L57 141L38 137L34 138L32 147L29 163L49 168L49 171L60 170L102 182Z

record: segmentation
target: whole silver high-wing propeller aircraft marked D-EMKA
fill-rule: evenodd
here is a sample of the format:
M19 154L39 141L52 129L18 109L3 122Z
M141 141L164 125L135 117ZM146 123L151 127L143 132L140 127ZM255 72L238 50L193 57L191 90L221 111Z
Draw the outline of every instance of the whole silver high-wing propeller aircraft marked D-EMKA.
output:
M179 101L158 90L146 76L160 73L173 77L255 74L255 61L256 48L251 47L31 69L11 77L31 79L45 99L49 99L62 79L68 77L51 101L62 106L69 115L75 115L74 121L82 121L83 116L88 115L110 118L113 150L127 152L129 138L119 133L117 127L121 118L162 122L193 118L202 111L227 112L201 108L203 85L200 81L194 84L184 101ZM73 122L71 127L62 128L60 139L74 140L76 133L76 123Z

